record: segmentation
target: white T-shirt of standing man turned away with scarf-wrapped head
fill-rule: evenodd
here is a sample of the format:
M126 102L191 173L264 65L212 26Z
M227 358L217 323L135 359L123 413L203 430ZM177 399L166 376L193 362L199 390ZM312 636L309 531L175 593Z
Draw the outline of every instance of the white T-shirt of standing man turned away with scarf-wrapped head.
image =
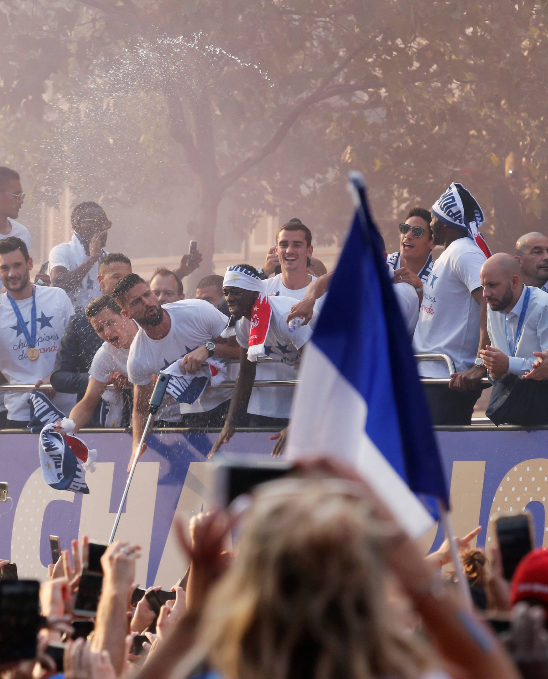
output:
M413 337L416 354L448 354L457 372L473 366L480 344L480 305L471 293L482 287L485 260L475 242L465 237L454 240L435 261ZM441 361L419 361L418 372L423 377L448 377Z

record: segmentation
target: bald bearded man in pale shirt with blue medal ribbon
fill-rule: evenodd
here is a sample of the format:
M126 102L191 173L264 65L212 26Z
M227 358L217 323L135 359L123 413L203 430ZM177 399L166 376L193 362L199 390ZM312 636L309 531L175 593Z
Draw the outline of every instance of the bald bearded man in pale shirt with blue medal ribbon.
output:
M490 377L522 377L534 363L533 352L548 348L548 293L524 285L515 257L492 255L480 272L488 303L490 345L480 351Z

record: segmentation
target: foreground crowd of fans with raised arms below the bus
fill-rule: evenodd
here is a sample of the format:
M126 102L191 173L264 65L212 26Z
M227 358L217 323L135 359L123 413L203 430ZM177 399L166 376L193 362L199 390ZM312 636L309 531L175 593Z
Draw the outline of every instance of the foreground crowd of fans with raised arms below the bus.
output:
M49 566L34 608L0 580L3 679L548 676L547 552L530 551L508 580L498 549L471 547L479 526L455 538L472 604L441 570L448 540L423 557L338 462L300 463L239 509L175 526L189 569L170 589L138 588L136 544L106 547L92 575L86 537Z

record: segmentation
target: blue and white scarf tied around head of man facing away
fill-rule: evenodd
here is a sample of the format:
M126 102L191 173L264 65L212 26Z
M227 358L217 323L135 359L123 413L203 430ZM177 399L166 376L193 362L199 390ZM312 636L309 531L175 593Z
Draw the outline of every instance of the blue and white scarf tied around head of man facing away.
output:
M462 184L452 183L432 206L432 214L447 226L467 231L486 257L492 255L478 229L484 223L480 204Z

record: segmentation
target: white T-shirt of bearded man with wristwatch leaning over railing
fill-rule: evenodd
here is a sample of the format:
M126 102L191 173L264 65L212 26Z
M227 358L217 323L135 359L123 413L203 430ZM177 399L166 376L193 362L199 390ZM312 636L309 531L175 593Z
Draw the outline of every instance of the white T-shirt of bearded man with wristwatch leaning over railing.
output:
M153 375L218 337L229 322L227 316L203 299L182 299L163 304L163 308L172 322L168 334L163 339L151 339L139 328L132 342L128 357L128 379L132 384L149 384ZM168 422L178 422L180 414L210 411L230 399L231 394L232 389L208 387L196 403L181 403L180 406L172 397L165 396L164 401L171 399L177 409L174 419Z

